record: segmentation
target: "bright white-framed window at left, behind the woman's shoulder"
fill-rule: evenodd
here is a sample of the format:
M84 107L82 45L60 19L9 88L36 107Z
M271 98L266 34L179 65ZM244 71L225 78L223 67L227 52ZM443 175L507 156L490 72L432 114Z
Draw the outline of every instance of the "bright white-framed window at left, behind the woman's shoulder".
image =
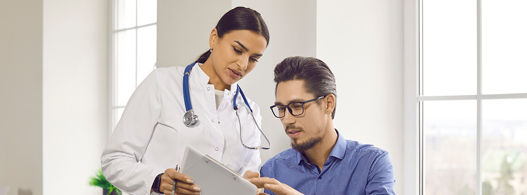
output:
M135 87L155 69L157 1L114 0L112 15L111 131Z

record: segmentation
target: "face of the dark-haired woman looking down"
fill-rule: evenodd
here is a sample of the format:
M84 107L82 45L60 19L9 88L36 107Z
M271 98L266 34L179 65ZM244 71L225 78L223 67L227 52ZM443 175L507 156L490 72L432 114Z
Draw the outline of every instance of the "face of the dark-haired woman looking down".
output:
M267 47L264 36L248 30L236 30L219 37L216 28L210 36L209 60L219 79L231 85L255 69ZM212 78L211 78L212 79Z

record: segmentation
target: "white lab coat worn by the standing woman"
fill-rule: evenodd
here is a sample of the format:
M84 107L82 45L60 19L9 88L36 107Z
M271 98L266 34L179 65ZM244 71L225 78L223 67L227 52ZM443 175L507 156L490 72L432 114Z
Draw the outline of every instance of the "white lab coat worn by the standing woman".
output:
M152 71L132 94L101 156L102 172L115 187L126 193L149 194L159 173L182 163L187 145L240 174L258 172L260 152L240 142L238 117L232 108L237 83L231 85L232 91L225 90L216 110L214 85L208 84L209 76L198 65L189 76L192 108L199 116L196 125L183 124L184 67ZM237 99L243 104L241 95ZM258 105L248 102L261 125ZM259 145L260 132L252 116L243 108L239 112L244 143Z

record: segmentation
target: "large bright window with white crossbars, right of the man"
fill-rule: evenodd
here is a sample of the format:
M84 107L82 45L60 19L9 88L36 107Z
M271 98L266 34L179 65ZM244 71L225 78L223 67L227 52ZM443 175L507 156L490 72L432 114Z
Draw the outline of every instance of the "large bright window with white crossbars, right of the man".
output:
M527 193L527 1L416 3L418 193Z

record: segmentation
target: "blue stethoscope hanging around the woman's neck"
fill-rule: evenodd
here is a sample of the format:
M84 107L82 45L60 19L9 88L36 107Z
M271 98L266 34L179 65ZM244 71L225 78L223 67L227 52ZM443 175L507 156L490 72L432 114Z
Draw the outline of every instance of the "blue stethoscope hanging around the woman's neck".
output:
M183 98L184 98L184 101L185 101L185 109L187 109L187 112L185 113L185 115L183 115L183 123L186 126L194 125L194 124L198 123L198 120L199 120L198 115L194 114L194 110L192 110L192 104L190 103L189 76L190 76L190 71L192 70L192 67L194 66L194 64L196 64L196 63L192 63L192 64L188 65L185 68L185 73L183 74ZM245 147L247 149L251 149L251 150L257 150L257 149L267 150L267 149L271 148L271 142L269 142L269 139L267 139L267 136L260 129L260 126L256 122L255 114L252 113L251 106L249 105L249 102L247 102L247 98L245 98L245 94L243 94L243 91L241 91L240 86L239 85L237 85L237 86L238 87L237 87L236 93L234 95L234 100L232 100L232 105L233 105L233 109L236 111L236 116L238 116L238 123L240 124L240 141L241 141L241 144L243 145L243 147ZM267 143L269 144L269 147L260 147L260 146L248 147L247 145L245 145L245 143L243 143L243 139L242 139L243 138L243 134L242 134L243 131L241 129L240 114L238 113L238 103L236 103L236 99L238 98L238 94L241 94L241 98L243 98L243 102L245 102L245 106L247 106L247 108L251 111L252 120L255 122L256 127L258 128L258 130L260 130L260 133L262 133L262 135L264 135L264 138L267 141Z

